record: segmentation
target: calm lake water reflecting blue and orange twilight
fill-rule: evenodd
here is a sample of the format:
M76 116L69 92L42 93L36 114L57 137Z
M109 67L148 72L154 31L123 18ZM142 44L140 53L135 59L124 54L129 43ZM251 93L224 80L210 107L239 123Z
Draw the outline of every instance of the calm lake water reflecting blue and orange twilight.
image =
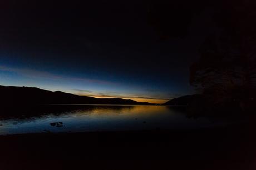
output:
M227 122L188 118L167 106L59 105L16 109L1 117L0 134L189 129L224 124Z

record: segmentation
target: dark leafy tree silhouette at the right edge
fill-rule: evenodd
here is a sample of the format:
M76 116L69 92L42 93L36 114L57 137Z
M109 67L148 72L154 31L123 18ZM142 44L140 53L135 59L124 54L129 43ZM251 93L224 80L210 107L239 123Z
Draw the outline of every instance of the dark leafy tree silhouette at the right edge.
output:
M190 67L190 84L215 102L248 103L255 96L255 2L223 4L213 14L216 29L200 48L200 58Z

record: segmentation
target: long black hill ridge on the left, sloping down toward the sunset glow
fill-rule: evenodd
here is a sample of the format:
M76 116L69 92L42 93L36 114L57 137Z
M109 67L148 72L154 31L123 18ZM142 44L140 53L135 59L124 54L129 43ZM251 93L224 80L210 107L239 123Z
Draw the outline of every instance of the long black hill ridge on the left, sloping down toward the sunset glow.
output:
M78 96L61 91L47 91L35 87L0 86L0 94L0 103L2 106L24 104L151 104L122 98Z

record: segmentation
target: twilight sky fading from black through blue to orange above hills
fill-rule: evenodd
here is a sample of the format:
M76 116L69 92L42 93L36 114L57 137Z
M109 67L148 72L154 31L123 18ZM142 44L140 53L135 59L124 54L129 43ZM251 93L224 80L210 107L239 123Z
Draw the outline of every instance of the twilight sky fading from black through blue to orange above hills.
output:
M203 1L1 1L0 85L164 103L194 93Z

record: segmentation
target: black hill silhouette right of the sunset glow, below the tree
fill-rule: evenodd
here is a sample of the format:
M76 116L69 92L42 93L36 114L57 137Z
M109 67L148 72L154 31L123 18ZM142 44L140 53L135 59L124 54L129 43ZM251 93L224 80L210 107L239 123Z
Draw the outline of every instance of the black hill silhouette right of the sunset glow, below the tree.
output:
M188 117L237 119L254 115L256 100L253 97L241 100L227 96L215 99L214 94L192 94L171 99L163 105L183 106Z

